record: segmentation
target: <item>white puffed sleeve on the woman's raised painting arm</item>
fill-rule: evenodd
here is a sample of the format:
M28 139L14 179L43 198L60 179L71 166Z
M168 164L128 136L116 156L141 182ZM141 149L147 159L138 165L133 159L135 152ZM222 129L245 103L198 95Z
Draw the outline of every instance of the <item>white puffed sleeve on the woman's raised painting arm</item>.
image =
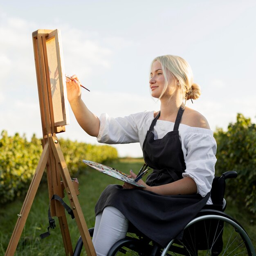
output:
M109 117L101 114L97 141L106 144L126 144L139 142L139 130L143 125L146 112L126 117Z

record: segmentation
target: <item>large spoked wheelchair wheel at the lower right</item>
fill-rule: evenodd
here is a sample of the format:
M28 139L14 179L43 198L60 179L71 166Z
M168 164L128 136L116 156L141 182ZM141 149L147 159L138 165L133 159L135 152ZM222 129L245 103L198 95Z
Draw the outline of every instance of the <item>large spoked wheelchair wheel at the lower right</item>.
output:
M243 227L225 213L216 213L218 215L209 211L209 215L192 220L184 229L182 240L173 239L161 255L256 256L252 242Z

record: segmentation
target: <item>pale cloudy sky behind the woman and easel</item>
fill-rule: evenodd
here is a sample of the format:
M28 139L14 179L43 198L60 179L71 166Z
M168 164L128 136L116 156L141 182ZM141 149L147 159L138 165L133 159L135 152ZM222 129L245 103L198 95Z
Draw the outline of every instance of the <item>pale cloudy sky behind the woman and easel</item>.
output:
M66 74L90 92L96 115L122 117L159 110L150 96L151 61L186 59L201 97L186 103L213 131L242 113L256 122L255 0L9 0L0 1L0 132L42 137L32 32L61 31ZM77 124L57 137L97 144ZM119 156L141 157L139 143L116 145ZM89 159L90 160L90 159Z

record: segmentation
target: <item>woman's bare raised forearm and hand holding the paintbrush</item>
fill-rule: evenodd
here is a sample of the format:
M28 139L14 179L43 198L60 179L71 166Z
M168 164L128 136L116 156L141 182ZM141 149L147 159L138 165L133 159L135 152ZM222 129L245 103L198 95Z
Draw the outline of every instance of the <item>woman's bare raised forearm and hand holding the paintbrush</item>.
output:
M67 99L70 103L72 111L79 125L89 135L97 137L99 134L100 121L94 115L81 99L80 81L76 75L71 77L73 80L67 79Z

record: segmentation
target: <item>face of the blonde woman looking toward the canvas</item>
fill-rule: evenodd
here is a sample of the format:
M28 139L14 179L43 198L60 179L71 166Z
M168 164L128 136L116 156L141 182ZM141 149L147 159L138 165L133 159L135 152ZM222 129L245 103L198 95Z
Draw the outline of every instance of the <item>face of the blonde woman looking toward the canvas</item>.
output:
M171 80L173 79L170 76L170 81ZM164 85L165 85L164 73L162 70L162 65L159 61L155 61L152 65L149 84L150 84L152 97L159 98L164 90ZM162 97L164 97L164 95L170 95L170 90L171 90L171 86L168 86L166 88L166 92L162 95Z

